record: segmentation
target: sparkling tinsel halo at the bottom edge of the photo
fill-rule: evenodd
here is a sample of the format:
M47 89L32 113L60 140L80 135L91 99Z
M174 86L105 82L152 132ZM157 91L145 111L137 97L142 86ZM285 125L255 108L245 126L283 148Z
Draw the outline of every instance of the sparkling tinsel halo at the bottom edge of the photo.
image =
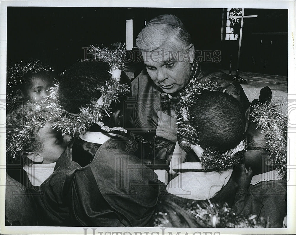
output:
M227 203L197 200L165 202L154 216L154 227L262 228L266 222L256 215L238 214Z

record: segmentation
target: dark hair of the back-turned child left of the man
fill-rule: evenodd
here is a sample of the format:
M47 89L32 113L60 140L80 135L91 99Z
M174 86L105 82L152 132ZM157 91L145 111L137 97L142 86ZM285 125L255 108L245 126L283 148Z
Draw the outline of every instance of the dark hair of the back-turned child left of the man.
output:
M69 113L78 114L81 106L86 107L94 98L99 99L102 93L97 89L104 86L111 74L108 63L77 62L67 68L59 84L59 100ZM122 83L129 83L129 78L122 73ZM112 107L112 104L110 105Z

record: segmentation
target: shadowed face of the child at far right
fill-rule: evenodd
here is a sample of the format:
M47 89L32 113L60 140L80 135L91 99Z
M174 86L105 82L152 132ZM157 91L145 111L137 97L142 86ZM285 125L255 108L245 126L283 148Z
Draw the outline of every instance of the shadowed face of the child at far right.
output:
M264 133L261 133L260 128L256 130L256 124L250 122L247 129L247 151L244 153L244 161L247 169L251 166L256 170L264 167L267 161L268 151L266 150L266 139ZM264 165L263 165L264 164Z

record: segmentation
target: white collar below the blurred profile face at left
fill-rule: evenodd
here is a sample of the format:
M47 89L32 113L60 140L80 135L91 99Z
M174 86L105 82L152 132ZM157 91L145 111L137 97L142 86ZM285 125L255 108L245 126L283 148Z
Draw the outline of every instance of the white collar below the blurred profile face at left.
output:
M48 164L32 164L24 166L28 178L33 186L40 186L54 172L55 162Z

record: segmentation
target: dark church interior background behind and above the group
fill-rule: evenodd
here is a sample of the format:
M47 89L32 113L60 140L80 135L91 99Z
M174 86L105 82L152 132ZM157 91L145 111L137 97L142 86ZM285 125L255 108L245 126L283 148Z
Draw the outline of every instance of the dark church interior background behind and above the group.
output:
M229 68L232 55L234 71L239 41L221 41L222 13L213 8L7 7L7 65L39 59L60 73L84 58L83 47L125 42L127 19L133 19L135 41L144 20L174 14L196 50L221 51L221 61L212 63L221 69ZM288 10L245 9L244 14L258 17L244 21L240 71L287 75Z

